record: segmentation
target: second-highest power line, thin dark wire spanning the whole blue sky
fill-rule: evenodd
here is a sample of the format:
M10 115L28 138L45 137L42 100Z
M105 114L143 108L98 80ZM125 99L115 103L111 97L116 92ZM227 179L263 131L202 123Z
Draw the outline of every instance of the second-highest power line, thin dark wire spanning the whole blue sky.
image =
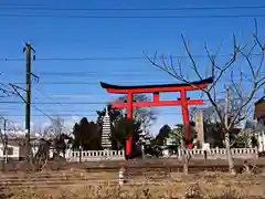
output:
M265 14L209 15L82 15L82 14L0 14L0 18L59 18L59 19L239 19L264 18Z

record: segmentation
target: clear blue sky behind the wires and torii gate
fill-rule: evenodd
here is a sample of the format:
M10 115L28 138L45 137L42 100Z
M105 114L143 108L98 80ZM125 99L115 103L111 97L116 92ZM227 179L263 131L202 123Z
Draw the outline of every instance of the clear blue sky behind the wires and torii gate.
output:
M12 6L10 6L12 4ZM23 6L24 4L24 6ZM181 7L233 7L233 6L264 6L262 0L135 0L135 1L70 1L70 0L24 0L1 1L0 3L0 59L1 82L23 83L25 80L24 61L4 61L4 59L23 59L23 43L30 42L36 51L36 61L32 63L32 71L40 76L39 83L32 85L32 101L35 103L55 102L59 104L36 104L49 115L61 115L65 119L77 119L87 116L95 118L95 111L102 109L105 102L113 101L116 95L107 94L98 82L113 84L152 84L174 83L176 80L153 67L146 59L131 60L41 60L70 57L139 57L142 51L153 55L159 54L187 55L180 34L188 39L193 54L205 54L203 44L214 52L223 42L221 53L227 54L232 50L232 34L235 33L239 42L252 42L254 30L253 18L174 18L174 19L94 19L87 15L244 15L263 14L265 9L233 9L233 10L179 10L179 11L73 11L67 9L112 9L112 8L181 8ZM39 6L38 6L39 4ZM45 7L47 10L18 9ZM55 11L52 11L55 9ZM66 9L64 11L56 10ZM83 18L22 18L12 14L56 15L73 14ZM4 17L6 15L6 17ZM257 18L259 31L264 32L264 18ZM263 35L264 39L264 35ZM40 59L40 60L38 60ZM224 63L227 57L219 57ZM190 80L198 80L190 70L187 57L180 59L183 71ZM176 60L177 61L177 60ZM202 74L209 70L206 57L197 57ZM239 67L244 69L245 62L239 60ZM264 69L263 69L264 70ZM236 71L236 70L235 70ZM265 70L264 70L265 71ZM62 74L64 73L64 74ZM222 91L230 76L220 82L219 97L224 97ZM66 84L67 83L67 84ZM24 84L20 84L24 86ZM245 86L248 86L245 82ZM41 94L41 93L45 94ZM259 93L261 95L261 93ZM49 96L49 97L47 97ZM68 96L68 97L67 97ZM189 94L199 97L200 93ZM176 98L177 94L167 94L163 98ZM258 96L257 96L258 97ZM52 98L52 100L51 100ZM19 101L17 97L3 101ZM65 104L76 102L76 104ZM99 102L102 104L77 104L78 102ZM153 133L169 123L181 123L179 107L155 108L158 121L152 127ZM14 122L23 122L24 107L21 104L1 104L3 116ZM32 122L42 124L47 121L42 113L32 107Z

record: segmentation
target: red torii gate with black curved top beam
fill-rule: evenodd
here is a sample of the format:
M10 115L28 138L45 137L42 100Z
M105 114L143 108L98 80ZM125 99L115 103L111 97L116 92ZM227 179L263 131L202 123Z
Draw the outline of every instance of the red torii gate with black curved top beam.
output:
M126 108L127 118L132 118L132 111L135 107L150 107L150 106L181 106L183 124L189 124L189 105L202 105L203 100L190 100L187 97L187 92L206 88L213 82L213 77L204 78L198 82L190 82L183 84L159 84L159 85L136 85L136 86L118 86L100 82L103 88L108 93L127 94L127 102L114 102L114 108ZM180 92L180 98L176 101L160 101L159 93L161 92ZM132 102L135 93L152 93L151 102ZM189 140L189 132L186 133L186 140ZM132 136L130 135L126 140L126 155L131 154Z

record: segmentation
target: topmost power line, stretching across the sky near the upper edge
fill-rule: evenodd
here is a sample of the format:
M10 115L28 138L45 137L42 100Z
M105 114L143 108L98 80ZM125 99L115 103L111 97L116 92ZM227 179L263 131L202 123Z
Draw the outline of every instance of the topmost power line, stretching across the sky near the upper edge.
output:
M2 6L0 10L34 10L34 11L181 11L181 10L242 10L264 9L265 6L230 6L230 7L179 7L179 8L49 8L36 4Z

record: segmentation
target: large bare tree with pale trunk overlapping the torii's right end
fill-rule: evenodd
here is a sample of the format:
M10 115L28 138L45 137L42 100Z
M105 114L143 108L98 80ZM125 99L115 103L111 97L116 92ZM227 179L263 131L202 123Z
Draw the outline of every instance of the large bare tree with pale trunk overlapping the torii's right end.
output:
M194 56L191 53L191 50L188 45L187 40L183 35L181 35L184 50L188 54L188 57L191 62L191 69L194 71L195 75L199 80L203 80L202 73L200 73L198 63L194 60ZM204 45L204 50L206 53L206 57L210 62L210 70L211 70L211 76L213 77L213 83L208 88L199 88L197 85L192 85L191 81L184 77L182 74L182 63L179 61L176 65L173 63L172 56L169 59L161 56L161 61L157 61L157 57L155 56L147 59L150 61L152 65L156 67L165 71L169 75L173 76L176 80L190 84L194 86L195 88L203 92L203 94L209 100L211 106L214 108L214 112L216 113L218 119L220 121L220 125L222 127L222 130L224 133L225 137L225 147L227 153L227 161L229 161L229 168L231 172L234 172L234 163L231 154L231 144L230 144L230 130L233 126L235 126L236 123L240 121L243 121L246 118L246 111L250 106L252 106L253 98L255 97L255 94L258 90L263 88L265 85L265 76L263 75L264 70L264 56L265 56L265 44L261 41L261 38L258 35L257 31L257 23L255 21L255 31L253 33L254 43L248 43L241 45L236 41L236 36L233 35L233 50L230 55L230 59L225 63L218 63L218 56L220 55L220 49L215 53L211 53L208 45ZM239 66L236 66L236 62L239 57L243 57L246 62L247 69L241 70ZM255 56L255 60L253 59ZM234 67L235 66L235 67ZM247 72L248 70L248 72ZM237 73L236 73L237 72ZM225 116L227 115L223 114L223 106L220 105L220 102L216 100L216 90L218 84L220 83L220 80L223 76L227 76L227 73L230 73L231 76L231 85L235 93L237 94L239 100L241 102L237 105L236 109L232 109L233 105L230 104L229 106L229 123L225 121ZM234 75L235 73L237 76L240 76L240 80L235 80ZM250 82L251 87L246 90L243 90L243 82Z

